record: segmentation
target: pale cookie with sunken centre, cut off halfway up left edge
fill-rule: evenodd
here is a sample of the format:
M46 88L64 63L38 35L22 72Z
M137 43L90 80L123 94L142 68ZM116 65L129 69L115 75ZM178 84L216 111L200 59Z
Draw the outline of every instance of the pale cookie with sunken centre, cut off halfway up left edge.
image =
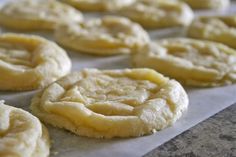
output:
M30 35L0 35L0 90L44 87L70 69L66 52L53 42Z

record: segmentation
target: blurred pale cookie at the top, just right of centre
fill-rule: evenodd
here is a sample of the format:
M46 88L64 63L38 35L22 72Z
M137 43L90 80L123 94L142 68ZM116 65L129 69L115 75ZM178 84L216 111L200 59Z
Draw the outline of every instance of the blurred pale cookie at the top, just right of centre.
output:
M194 15L191 8L178 1L140 0L121 8L117 14L126 16L147 29L185 26Z

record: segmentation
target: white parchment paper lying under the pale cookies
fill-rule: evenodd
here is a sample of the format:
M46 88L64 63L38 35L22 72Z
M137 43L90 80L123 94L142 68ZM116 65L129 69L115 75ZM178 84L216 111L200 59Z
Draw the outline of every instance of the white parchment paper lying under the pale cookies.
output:
M3 3L6 0L0 0ZM233 13L236 5L226 11L218 11L219 14ZM216 14L214 11L201 11L197 14ZM91 15L88 15L91 17ZM3 30L6 32L7 30ZM53 39L50 34L32 32ZM152 38L163 38L167 36L183 35L180 28L150 31ZM109 57L95 57L68 51L73 62L73 70L83 68L117 69L129 68L129 55L117 55ZM0 74L1 77L1 74ZM139 138L125 139L93 139L76 136L68 131L57 129L47 125L52 140L51 156L55 157L137 157L142 156L150 150L158 147L164 142L174 138L185 130L207 119L215 113L236 102L236 85L217 88L188 88L186 89L190 98L189 109L171 127L157 132L153 135ZM32 96L37 91L31 92L0 92L0 100L7 104L23 108L29 111Z

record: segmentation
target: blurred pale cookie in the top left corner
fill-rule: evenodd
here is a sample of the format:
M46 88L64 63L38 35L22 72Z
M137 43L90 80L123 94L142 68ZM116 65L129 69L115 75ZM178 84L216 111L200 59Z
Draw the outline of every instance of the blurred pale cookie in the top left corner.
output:
M53 30L82 19L79 11L56 0L17 0L0 8L0 25L16 30Z

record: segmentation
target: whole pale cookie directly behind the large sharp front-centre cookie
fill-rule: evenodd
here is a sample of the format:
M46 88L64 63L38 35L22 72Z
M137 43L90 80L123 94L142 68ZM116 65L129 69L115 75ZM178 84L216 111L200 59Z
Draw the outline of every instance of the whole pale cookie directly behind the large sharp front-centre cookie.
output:
M55 39L65 47L97 55L136 52L150 40L141 26L117 16L61 25Z

